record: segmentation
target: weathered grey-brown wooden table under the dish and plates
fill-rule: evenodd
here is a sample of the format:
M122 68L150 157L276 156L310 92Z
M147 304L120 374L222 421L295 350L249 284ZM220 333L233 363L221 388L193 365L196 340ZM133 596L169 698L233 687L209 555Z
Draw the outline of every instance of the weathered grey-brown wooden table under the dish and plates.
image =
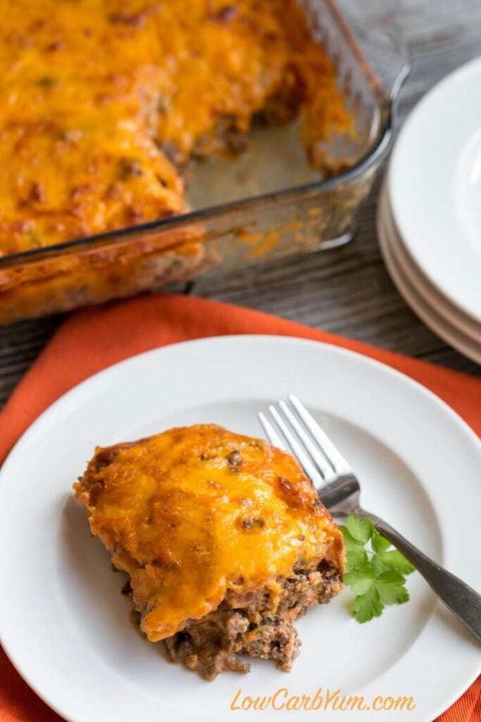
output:
M480 0L339 0L366 27L403 35L412 72L400 120L449 71L481 52ZM451 368L480 367L431 333L394 288L376 239L379 182L358 217L353 243L336 251L264 264L249 273L200 280L195 293L295 319ZM0 403L53 334L61 317L0 329Z

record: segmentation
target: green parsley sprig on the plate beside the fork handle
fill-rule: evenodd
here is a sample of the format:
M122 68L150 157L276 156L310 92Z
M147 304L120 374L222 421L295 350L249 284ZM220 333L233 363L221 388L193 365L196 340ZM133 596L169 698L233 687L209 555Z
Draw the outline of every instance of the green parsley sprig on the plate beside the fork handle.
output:
M353 617L360 624L380 617L384 606L409 600L405 577L410 562L374 529L370 519L350 514L343 532L348 571L344 581L356 596ZM370 542L370 548L366 544Z

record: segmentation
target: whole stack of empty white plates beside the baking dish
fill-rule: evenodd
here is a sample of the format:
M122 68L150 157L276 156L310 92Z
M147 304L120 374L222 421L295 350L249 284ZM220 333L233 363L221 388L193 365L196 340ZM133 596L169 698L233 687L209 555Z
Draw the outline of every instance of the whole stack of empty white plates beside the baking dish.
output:
M387 269L421 320L481 363L481 58L418 104L397 141L378 230Z

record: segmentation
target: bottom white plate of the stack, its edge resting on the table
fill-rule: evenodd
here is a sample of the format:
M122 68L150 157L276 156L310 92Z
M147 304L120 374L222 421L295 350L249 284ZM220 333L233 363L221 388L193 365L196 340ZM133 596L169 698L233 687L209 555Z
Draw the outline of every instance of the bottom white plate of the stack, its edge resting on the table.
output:
M382 206L379 207L377 228L379 247L387 270L406 303L431 331L464 354L464 356L481 364L481 343L477 343L457 326L453 326L448 318L443 313L440 313L438 308L428 303L426 298L420 295L417 287L412 284L411 279L405 274L398 258L399 249L396 230L389 222L389 217L384 213Z

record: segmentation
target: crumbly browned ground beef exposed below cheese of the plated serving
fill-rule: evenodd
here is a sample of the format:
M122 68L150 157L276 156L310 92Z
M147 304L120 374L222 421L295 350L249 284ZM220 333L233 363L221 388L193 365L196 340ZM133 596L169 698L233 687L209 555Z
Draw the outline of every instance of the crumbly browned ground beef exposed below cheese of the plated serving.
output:
M325 604L342 586L340 574L325 560L312 569L295 567L280 580L281 601L273 613L268 590L239 595L227 593L221 605L202 619L193 619L181 632L164 640L170 658L205 679L221 671L247 672L250 664L239 655L273 659L279 669L291 669L301 642L293 622L314 604Z

